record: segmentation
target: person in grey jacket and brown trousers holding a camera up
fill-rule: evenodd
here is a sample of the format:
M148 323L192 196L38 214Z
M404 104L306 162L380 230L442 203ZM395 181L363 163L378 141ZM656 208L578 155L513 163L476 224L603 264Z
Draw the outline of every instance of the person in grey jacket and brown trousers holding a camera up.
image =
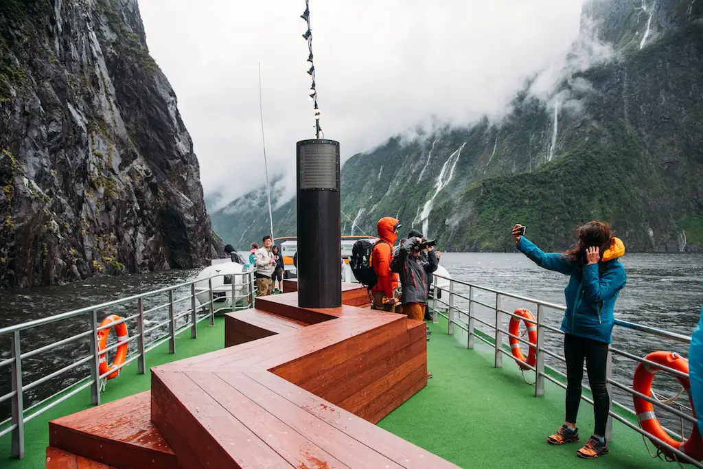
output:
M427 264L420 262L420 252L423 249L422 238L408 238L391 262L391 271L400 274L400 282L403 285L403 293L400 296L403 314L415 321L423 321L427 304L427 276L437 270L434 247L427 248ZM432 378L432 373L427 372L427 378Z

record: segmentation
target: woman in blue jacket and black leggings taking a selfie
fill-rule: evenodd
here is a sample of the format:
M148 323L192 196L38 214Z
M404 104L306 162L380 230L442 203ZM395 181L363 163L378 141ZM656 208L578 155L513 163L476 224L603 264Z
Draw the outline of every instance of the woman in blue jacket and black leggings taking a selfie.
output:
M625 268L618 258L625 245L612 236L610 226L601 221L589 221L576 229L578 240L571 250L562 254L546 254L524 236L522 225L512 229L517 249L544 269L571 276L565 289L567 309L562 319L564 355L567 362L566 421L550 444L579 442L576 414L581 402L583 361L586 360L588 383L593 392L595 430L588 443L579 449L581 458L598 458L607 454L605 426L610 396L605 387L608 344L614 318L615 300L625 287ZM601 254L602 253L602 254Z

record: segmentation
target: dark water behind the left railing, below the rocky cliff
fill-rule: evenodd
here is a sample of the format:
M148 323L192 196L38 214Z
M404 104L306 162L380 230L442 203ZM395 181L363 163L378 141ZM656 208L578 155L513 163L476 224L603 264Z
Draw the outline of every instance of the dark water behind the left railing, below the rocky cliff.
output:
M49 286L41 288L28 288L13 291L0 292L0 328L13 324L32 321L54 314L60 314L74 309L88 307L94 304L101 304L129 297L138 293L150 290L158 290L168 285L176 285L191 280L198 275L197 270L193 271L160 271L150 274L127 275L120 277L98 276L82 283L71 283L69 285ZM174 294L174 299L190 295L190 288L180 289ZM168 294L156 295L143 301L143 309L156 307L168 302ZM176 304L174 311L186 311L190 307L190 302ZM136 314L137 302L120 304L98 311L98 321L101 321L109 314L117 314L122 317ZM156 326L158 323L168 319L168 309L159 309L145 316L145 328ZM178 326L186 322L186 318L178 321ZM20 345L22 352L29 352L51 342L56 342L72 335L77 335L91 328L89 314L84 314L72 319L49 323L45 326L38 326L20 332ZM129 335L136 333L136 320L127 323ZM168 333L168 325L161 326L146 334L147 342L157 340ZM108 343L114 343L115 333L112 331ZM0 359L10 356L10 335L0 336ZM136 351L136 342L130 342L129 350ZM60 368L78 361L90 354L90 343L88 338L82 338L57 347L50 352L38 354L27 359L22 359L22 382L24 385L41 378L42 375L58 371ZM114 354L114 352L112 352ZM111 354L108 352L108 360ZM25 408L41 399L51 396L56 390L77 382L81 378L90 375L88 364L84 364L75 369L67 371L48 382L27 390L24 394ZM10 367L0 369L0 396L11 390ZM10 404L6 401L0 404L0 420L10 416Z

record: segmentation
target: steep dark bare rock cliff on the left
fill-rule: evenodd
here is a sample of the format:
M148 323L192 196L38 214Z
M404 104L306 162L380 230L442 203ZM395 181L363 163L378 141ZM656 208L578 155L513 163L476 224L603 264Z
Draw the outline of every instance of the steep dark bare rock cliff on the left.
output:
M0 2L0 287L209 263L176 95L136 0Z

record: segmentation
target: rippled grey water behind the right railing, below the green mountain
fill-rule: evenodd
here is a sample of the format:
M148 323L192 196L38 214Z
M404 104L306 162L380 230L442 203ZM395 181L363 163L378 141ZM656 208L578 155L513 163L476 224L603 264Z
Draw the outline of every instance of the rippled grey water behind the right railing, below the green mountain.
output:
M631 254L622 259L622 264L627 272L627 286L621 291L617 300L616 319L690 336L699 320L703 304L703 255ZM442 256L441 265L458 280L555 304L565 304L564 288L569 278L539 268L520 253L447 253ZM467 287L457 285L455 290L468 297ZM475 293L475 298L486 304L495 304L496 301L495 295L491 293ZM444 300L446 301L446 297ZM457 299L456 302L458 307L467 310L466 301ZM534 304L503 298L503 309L506 311L512 311L518 307L526 307L536 314ZM495 311L480 306L477 306L476 311L479 318L488 323L495 323ZM558 328L562 311L546 309L546 314L549 323ZM510 318L503 316L503 330L507 330ZM480 323L476 323L476 326L486 333L494 334L492 330ZM456 334L457 340L466 343L466 334L462 330L456 328ZM547 331L545 339L552 352L563 356L563 341L560 334ZM688 345L619 326L615 326L613 330L613 346L636 356L646 356L656 350L666 350L688 357ZM503 364L507 364L509 360L509 357L504 356ZM563 363L549 356L547 363L562 372L566 371ZM636 365L635 361L614 355L614 379L631 386ZM534 381L533 372L527 372L525 375L530 381ZM680 389L676 379L664 373L659 373L654 380L654 391L659 394L672 396ZM614 399L632 407L630 394L614 390ZM678 402L688 405L687 399L682 398ZM666 425L669 425L669 428L680 431L678 418L675 420L667 418L664 411L657 411L657 415L666 422Z

